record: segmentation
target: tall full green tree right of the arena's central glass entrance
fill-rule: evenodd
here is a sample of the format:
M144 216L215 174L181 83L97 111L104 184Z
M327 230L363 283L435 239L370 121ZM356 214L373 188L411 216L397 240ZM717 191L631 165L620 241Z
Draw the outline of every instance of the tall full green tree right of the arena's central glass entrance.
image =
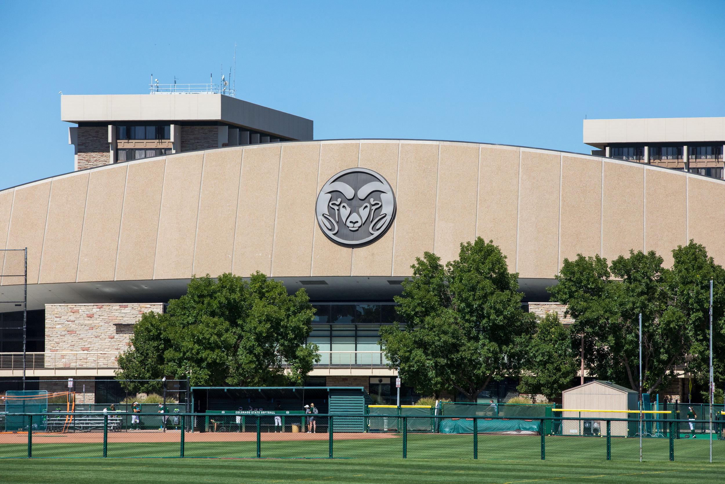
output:
M398 316L381 328L381 346L402 380L419 393L463 393L476 401L491 380L516 376L534 315L521 308L518 274L505 255L481 237L460 245L445 266L432 253L416 258L403 282Z

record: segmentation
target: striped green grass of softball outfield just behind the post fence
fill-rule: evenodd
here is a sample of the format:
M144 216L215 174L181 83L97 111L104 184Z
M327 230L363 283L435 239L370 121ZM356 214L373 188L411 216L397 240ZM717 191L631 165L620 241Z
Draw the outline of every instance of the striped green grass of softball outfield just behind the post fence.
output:
M123 436L123 435L122 435ZM149 438L151 438L151 435ZM0 436L1 442L1 436ZM33 457L101 457L101 443L34 443ZM25 444L0 444L0 457L27 456ZM328 440L262 441L265 458L326 458ZM187 457L254 458L257 445L247 442L186 442ZM709 443L705 439L674 441L676 462L708 462ZM178 457L179 444L172 442L108 444L109 458ZM395 459L402 457L402 438L334 440L334 456L345 459ZM599 437L547 436L545 457L555 462L604 462L607 439ZM473 436L452 434L408 434L409 459L473 459ZM612 438L613 462L639 462L639 439ZM643 459L668 462L669 440L646 438ZM541 460L541 440L535 435L479 435L479 460ZM713 441L713 462L725 463L725 440ZM0 466L1 466L0 462Z

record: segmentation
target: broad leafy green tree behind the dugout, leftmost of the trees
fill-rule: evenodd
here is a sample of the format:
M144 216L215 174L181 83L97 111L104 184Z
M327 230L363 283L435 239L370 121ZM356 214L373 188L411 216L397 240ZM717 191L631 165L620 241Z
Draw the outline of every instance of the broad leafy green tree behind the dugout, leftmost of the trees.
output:
M188 375L197 386L297 385L319 361L317 345L307 343L314 312L305 290L288 295L260 272L249 281L194 277L166 313L141 317L116 374L124 380Z

